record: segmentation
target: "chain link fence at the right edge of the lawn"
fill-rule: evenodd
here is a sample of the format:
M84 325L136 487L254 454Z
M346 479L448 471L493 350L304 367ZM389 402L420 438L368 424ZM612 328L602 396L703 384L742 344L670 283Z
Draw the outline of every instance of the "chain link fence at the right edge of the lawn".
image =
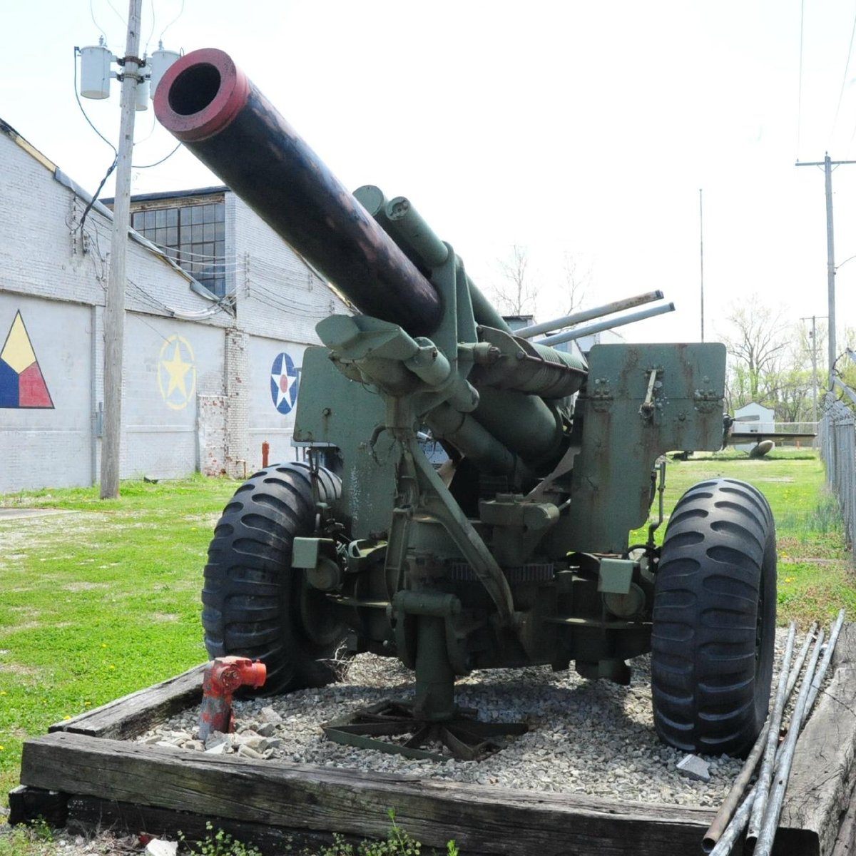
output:
M856 404L856 392L835 378L835 386ZM820 421L820 450L826 481L838 497L847 544L853 552L856 533L856 419L853 407L827 393Z

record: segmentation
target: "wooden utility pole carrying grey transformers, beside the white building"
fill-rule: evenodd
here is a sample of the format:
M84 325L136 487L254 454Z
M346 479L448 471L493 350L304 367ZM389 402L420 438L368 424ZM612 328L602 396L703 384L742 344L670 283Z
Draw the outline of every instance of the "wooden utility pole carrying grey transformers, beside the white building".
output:
M128 2L128 39L122 65L122 118L116 163L116 201L110 238L110 279L104 306L104 433L101 442L101 498L119 496L122 442L122 348L125 339L125 253L131 218L131 157L134 152L134 108L140 59L142 0Z

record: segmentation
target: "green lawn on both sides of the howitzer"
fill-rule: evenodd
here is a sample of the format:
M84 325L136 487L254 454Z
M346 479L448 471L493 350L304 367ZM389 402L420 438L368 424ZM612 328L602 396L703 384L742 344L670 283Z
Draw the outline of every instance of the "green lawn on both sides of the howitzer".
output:
M669 464L665 507L702 479L764 491L779 538L779 621L829 624L856 609L841 521L811 454L723 453ZM201 477L0 496L0 507L54 508L0 518L0 800L18 782L21 744L74 716L205 660L199 588L205 550L237 485ZM662 526L658 537L662 538Z

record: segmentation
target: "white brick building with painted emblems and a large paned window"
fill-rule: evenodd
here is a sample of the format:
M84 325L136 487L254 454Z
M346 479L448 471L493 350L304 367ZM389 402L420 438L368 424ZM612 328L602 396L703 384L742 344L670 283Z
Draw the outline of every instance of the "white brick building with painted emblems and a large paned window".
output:
M87 210L90 196L2 121L0 187L0 492L93 484L110 211ZM318 320L347 311L224 187L135 198L135 224L150 234L151 211L168 230L169 209L215 201L201 234L220 237L199 241L212 247L174 253L129 234L122 478L240 478L264 441L272 461L293 459L303 352Z

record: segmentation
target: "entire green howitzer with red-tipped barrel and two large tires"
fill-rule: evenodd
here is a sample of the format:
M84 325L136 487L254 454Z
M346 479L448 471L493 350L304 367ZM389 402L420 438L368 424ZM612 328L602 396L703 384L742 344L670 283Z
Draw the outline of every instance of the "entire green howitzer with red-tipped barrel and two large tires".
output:
M439 737L473 757L520 726L467 716L456 676L573 662L626 683L626 661L652 651L664 740L752 746L776 604L764 496L703 482L662 548L656 523L628 543L657 495L657 457L722 445L724 347L597 345L586 364L532 342L544 330L514 335L407 199L348 193L222 51L176 62L155 108L361 312L326 318L324 347L306 351L294 439L309 463L254 475L217 525L203 590L211 656L259 657L268 692L333 680L342 644L399 657L415 670L413 703L330 736L411 730L408 752ZM449 455L439 470L420 431Z

